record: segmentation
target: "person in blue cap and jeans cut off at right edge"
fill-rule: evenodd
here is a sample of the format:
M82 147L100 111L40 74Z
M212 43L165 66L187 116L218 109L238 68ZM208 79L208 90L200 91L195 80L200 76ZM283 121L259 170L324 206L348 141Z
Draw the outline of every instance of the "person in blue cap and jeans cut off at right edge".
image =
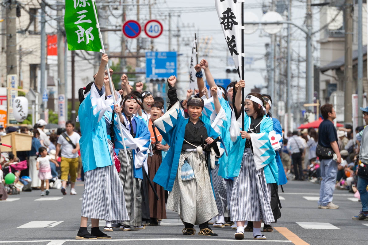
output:
M362 131L362 141L360 144L360 151L359 151L359 168L367 168L368 167L368 107L360 107L361 111L363 112L363 119L365 122L364 130ZM368 185L368 176L361 174L358 169L358 183L357 189L360 194L360 200L362 203L362 210L359 212L358 215L353 216L353 220L368 220L368 192L367 192L367 185Z

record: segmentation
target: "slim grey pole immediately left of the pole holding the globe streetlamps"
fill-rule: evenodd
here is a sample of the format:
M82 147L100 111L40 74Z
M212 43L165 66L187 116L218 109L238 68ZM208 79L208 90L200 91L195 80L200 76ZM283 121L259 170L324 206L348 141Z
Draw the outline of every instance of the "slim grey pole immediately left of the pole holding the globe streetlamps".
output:
M289 0L289 6L287 7L287 20L291 21L291 0ZM291 32L290 24L287 24L287 90L286 90L286 108L287 115L291 114ZM299 69L299 67L298 67ZM297 90L299 93L299 90ZM287 131L293 130L291 127L291 116L288 116L287 120Z

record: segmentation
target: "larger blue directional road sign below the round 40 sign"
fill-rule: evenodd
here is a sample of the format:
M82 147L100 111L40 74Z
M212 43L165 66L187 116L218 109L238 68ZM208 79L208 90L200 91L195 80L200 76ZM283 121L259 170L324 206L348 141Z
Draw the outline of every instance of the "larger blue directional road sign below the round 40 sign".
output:
M146 80L176 76L176 52L146 52Z

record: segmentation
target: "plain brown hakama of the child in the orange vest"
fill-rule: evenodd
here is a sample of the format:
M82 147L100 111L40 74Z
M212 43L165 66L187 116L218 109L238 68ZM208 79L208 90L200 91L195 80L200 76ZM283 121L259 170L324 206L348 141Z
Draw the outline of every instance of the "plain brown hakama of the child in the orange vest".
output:
M157 170L159 169L162 162L161 151L153 151L153 156L148 156L148 176L151 180L156 175ZM157 195L159 196L159 201L157 201L155 195L153 194L153 190L151 187L148 188L148 199L149 199L149 212L151 218L156 219L166 219L166 208L165 208L165 195L166 191L164 188L154 182L153 186L156 189Z

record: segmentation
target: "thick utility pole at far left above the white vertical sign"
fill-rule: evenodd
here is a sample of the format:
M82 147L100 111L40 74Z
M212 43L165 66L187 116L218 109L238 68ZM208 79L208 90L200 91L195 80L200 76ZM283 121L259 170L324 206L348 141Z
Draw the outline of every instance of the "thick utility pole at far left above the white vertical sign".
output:
M17 74L17 27L15 0L8 1L6 10L6 74Z

